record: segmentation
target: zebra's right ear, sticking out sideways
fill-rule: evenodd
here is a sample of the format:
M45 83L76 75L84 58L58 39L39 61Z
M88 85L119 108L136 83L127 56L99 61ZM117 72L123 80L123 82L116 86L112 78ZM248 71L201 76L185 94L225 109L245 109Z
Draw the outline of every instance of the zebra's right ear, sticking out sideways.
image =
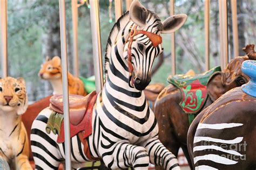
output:
M177 31L181 26L183 26L186 19L186 14L174 15L165 19L163 22L163 31L161 31L161 33L167 34Z

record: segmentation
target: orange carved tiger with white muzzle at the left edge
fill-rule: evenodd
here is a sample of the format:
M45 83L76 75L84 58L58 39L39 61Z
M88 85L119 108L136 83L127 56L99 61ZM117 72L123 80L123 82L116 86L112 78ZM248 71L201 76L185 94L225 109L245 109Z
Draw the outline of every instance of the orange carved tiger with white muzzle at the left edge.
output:
M28 108L25 81L0 79L0 158L11 169L32 169L29 163L28 134L21 115Z

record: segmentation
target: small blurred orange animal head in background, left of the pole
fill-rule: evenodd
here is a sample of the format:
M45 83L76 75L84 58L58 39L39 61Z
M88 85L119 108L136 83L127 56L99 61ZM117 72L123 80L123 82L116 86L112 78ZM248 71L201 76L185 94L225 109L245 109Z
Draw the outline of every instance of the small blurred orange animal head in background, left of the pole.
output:
M38 76L42 79L60 79L62 77L61 60L59 56L52 59L46 56L46 61L41 65Z

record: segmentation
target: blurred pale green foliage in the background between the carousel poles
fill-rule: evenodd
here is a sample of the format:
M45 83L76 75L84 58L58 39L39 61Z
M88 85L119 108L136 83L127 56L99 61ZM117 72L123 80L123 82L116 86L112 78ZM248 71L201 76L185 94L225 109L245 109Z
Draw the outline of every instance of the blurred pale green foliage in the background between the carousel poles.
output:
M105 53L105 44L114 23L109 23L109 1L100 0L100 31L102 38L102 52ZM114 1L113 1L114 2ZM141 0L142 4L159 14L161 20L169 16L169 0ZM123 1L125 11L125 1ZM69 70L72 73L72 19L71 1L66 1L66 27L69 52ZM230 8L230 7L229 7ZM242 1L243 17L245 22L245 42L255 44L255 9L253 0ZM176 13L187 13L187 22L176 32L176 66L177 74L183 74L189 69L196 73L204 71L204 1L176 0ZM214 20L218 15L218 1L211 1L211 43L210 60L211 67L219 65L219 35L218 23ZM44 61L43 39L49 26L59 23L50 23L52 17L58 17L58 1L51 0L22 0L8 1L8 57L9 75L13 77L22 76L26 80L29 99L39 100L52 93L49 84L37 76L41 63ZM112 17L114 20L114 4L112 5ZM92 42L90 9L86 5L78 9L78 49L79 49L79 71L82 76L93 75ZM182 46L184 45L184 46ZM243 44L245 45L245 44ZM167 85L166 78L171 74L171 41L170 35L163 35L163 46L165 60L158 72L152 77L152 83L163 82ZM232 52L230 52L232 58ZM60 54L58 54L60 56ZM244 54L240 54L244 55Z

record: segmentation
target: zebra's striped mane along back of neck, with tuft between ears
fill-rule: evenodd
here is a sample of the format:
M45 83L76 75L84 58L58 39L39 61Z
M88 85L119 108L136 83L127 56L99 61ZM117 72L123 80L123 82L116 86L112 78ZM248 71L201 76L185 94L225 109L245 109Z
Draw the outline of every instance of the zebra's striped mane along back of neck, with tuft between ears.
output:
M148 9L147 11L149 12L148 18L154 17L156 20L158 20L158 30L161 31L163 29L163 24L161 24L160 18L157 16L155 12L150 11ZM120 18L118 18L117 22L114 23L110 31L109 38L107 39L106 50L105 50L105 78L107 76L106 66L109 65L109 61L110 61L111 46L116 41L117 35L120 31L120 25L127 24L129 20L130 20L129 11L126 11Z

